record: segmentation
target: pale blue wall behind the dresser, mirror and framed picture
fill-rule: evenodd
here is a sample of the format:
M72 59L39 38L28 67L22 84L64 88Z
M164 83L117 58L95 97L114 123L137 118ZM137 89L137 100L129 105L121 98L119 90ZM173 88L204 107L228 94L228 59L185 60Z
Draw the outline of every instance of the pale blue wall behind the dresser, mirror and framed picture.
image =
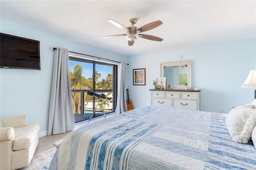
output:
M201 89L201 111L228 113L251 103L254 89L240 88L249 71L256 69L256 39L180 48L129 57L128 89L133 107L150 105L152 82L160 77L160 63L192 61L192 88ZM132 69L146 68L146 86L132 85Z

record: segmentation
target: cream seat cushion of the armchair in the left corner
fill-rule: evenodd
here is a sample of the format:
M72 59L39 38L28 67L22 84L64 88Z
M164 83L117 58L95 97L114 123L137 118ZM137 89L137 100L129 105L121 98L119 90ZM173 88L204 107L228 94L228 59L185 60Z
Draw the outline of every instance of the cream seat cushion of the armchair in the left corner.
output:
M31 138L39 131L38 124L28 125L26 127L14 128L15 139L12 150L27 149L31 146Z

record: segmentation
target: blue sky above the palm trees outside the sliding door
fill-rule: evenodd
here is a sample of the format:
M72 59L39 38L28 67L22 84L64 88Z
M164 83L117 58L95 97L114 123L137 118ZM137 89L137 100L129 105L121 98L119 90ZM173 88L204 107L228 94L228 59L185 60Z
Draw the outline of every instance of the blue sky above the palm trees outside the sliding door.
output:
M82 66L82 68L83 68L82 75L86 79L92 78L92 67L93 67L92 63L85 63L85 62L80 62L80 61L69 60L69 69L71 72L73 72L74 67L77 64ZM109 66L109 65L96 64L95 69L96 69L96 71L98 71L98 73L101 73L101 77L99 78L98 82L101 81L102 79L106 79L108 73L113 74L113 67Z

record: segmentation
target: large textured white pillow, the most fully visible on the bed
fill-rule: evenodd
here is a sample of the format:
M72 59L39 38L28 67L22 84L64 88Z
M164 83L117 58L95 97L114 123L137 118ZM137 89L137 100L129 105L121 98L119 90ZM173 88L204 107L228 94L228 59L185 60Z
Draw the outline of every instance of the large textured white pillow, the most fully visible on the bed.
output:
M256 109L252 105L235 107L226 117L228 132L237 143L247 143L255 125Z

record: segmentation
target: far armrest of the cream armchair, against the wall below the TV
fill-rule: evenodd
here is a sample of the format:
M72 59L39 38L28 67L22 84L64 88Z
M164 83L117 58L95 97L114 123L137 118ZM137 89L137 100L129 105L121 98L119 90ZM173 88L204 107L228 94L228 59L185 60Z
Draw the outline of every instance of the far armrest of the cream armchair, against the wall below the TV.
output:
M26 116L1 118L1 122L4 127L19 128L27 126Z

